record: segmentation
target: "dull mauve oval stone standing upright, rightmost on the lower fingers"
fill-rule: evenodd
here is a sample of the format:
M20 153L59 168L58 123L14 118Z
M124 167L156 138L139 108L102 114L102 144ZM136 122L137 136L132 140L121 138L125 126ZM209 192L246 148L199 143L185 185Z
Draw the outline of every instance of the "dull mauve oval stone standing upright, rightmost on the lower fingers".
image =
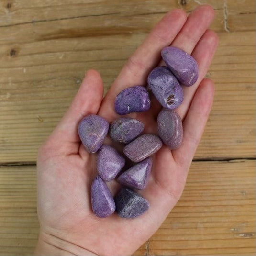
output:
M159 137L170 149L177 149L182 143L183 129L180 116L173 110L163 109L157 117Z

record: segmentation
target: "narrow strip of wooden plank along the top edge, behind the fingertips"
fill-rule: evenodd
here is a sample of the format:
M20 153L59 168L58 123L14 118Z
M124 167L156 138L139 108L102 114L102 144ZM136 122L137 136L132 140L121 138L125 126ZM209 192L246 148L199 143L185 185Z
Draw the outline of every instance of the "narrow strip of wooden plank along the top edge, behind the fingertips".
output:
M54 20L78 19L82 17L93 17L95 20L99 16L114 22L129 17L130 22L141 19L141 15L146 15L146 19L159 19L163 13L172 8L183 8L187 12L192 11L199 4L211 4L216 11L216 20L212 27L218 31L229 29L230 31L254 30L255 24L255 2L253 0L86 0L81 3L78 0L55 0L55 1L11 1L5 0L0 3L0 27L14 26L24 23L47 22ZM134 8L134 6L136 8ZM153 15L152 15L153 14ZM226 15L226 27L224 20ZM135 19L131 19L131 16ZM118 24L118 23L115 23Z

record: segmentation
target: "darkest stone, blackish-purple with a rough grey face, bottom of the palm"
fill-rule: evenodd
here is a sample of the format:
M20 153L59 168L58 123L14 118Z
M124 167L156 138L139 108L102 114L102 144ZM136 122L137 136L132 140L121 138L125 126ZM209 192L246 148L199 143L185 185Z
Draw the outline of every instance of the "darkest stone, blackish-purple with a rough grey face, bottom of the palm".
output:
M131 189L122 188L114 198L117 214L125 219L140 216L149 208L149 202Z

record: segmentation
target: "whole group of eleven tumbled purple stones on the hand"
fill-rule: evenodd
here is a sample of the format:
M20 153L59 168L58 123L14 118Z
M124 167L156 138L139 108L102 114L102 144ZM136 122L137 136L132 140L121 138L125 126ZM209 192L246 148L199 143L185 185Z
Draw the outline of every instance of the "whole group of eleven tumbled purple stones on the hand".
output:
M92 211L100 218L110 216L114 211L122 218L135 218L149 208L149 202L137 194L134 189L146 188L151 168L152 157L163 145L171 150L182 143L182 121L174 111L183 101L184 86L193 85L198 79L198 65L188 53L176 47L165 47L162 58L167 67L154 68L148 76L148 88L164 107L157 117L155 134L142 134L144 124L129 117L120 117L109 123L98 115L88 115L78 126L80 139L89 153L98 152L98 176L91 185ZM133 86L122 90L115 100L115 111L119 115L132 112L144 112L150 108L147 89ZM114 142L126 144L122 156L110 145L102 145L109 133ZM123 171L126 159L134 164ZM117 177L122 188L113 198L106 181Z

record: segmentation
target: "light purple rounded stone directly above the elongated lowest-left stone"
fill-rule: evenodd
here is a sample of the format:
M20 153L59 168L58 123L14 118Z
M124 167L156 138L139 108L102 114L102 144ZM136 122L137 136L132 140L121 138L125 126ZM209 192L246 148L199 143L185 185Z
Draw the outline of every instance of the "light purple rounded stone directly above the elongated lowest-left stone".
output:
M102 145L97 156L97 170L100 177L111 181L122 170L125 159L119 152L109 145Z

